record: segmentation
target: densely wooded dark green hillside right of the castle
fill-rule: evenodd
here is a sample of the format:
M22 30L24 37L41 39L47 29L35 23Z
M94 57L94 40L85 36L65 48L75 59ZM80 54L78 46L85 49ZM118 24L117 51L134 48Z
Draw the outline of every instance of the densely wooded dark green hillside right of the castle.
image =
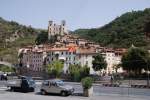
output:
M108 47L138 47L150 49L150 8L127 12L101 28L78 29L75 34Z

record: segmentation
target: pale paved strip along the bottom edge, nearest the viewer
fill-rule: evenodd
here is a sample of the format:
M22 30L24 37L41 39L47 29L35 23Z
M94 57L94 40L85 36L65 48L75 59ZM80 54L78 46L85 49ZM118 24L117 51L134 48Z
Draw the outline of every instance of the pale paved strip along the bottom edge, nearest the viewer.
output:
M148 96L54 96L54 95L39 95L35 93L19 93L19 92L2 92L0 91L0 100L149 100Z

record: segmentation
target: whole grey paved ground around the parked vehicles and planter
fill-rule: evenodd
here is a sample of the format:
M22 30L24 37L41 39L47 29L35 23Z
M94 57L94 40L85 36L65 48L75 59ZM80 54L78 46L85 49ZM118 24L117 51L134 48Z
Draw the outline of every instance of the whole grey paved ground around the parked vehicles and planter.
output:
M72 85L75 88L75 93L72 96L61 97L59 95L40 95L40 86L41 82L36 82L35 92L29 93L19 93L19 92L10 92L5 87L5 82L0 81L0 100L149 100L150 98L150 89L136 89L136 88L121 88L121 87L103 87L102 85L94 85L94 94L92 97L82 97L82 86L79 83L70 83L66 84Z

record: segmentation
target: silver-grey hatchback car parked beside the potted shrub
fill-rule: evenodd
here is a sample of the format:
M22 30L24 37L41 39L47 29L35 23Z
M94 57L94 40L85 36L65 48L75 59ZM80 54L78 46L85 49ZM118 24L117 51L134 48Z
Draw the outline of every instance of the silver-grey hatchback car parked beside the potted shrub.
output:
M62 80L53 79L45 80L41 86L41 93L43 95L47 93L61 94L62 96L71 95L74 92L74 88L70 85L65 85Z

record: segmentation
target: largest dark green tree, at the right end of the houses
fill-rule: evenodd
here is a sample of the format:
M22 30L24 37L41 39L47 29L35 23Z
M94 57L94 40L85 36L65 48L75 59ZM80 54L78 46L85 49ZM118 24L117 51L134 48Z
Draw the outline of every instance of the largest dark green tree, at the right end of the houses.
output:
M124 70L139 75L142 69L148 70L149 53L144 49L131 47L121 61Z

